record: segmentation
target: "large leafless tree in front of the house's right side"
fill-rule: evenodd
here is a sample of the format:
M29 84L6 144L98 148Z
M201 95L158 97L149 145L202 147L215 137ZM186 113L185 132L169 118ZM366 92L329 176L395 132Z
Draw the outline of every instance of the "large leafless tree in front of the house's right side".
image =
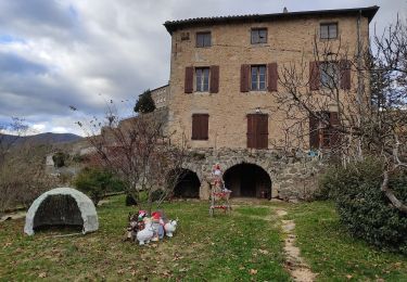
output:
M389 188L389 175L407 168L407 25L397 20L374 35L372 49L359 42L352 51L341 40L315 40L311 56L280 67L282 91L275 98L284 113L284 146L309 144L341 156L343 165L380 157L385 167L378 189L407 213Z

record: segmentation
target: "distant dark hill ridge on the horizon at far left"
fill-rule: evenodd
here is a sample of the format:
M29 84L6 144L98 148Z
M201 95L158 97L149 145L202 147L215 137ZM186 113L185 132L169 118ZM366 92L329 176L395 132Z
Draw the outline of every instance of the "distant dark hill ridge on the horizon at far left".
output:
M60 144L60 143L69 143L81 140L82 137L76 136L73 133L40 133L36 136L26 136L26 137L15 137L9 134L0 134L0 140L4 141L5 143L14 142L14 144L20 145L26 142L35 145L42 145L42 144Z

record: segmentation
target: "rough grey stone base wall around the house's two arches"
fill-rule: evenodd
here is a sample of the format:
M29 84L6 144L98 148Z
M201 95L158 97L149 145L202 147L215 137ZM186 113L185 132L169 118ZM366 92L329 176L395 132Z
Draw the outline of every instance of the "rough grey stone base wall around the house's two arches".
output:
M200 197L209 197L211 172L219 163L224 174L239 164L262 167L271 180L271 197L285 201L304 200L317 188L323 162L306 155L288 156L272 150L198 149L189 152L185 168L196 174L201 181Z

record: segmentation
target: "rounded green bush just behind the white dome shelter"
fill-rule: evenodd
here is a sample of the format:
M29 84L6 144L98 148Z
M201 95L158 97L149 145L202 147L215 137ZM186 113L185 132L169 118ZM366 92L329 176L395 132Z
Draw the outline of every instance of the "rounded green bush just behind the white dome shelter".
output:
M86 167L75 178L77 189L88 194L98 205L107 192L124 190L123 182L111 171L103 168Z

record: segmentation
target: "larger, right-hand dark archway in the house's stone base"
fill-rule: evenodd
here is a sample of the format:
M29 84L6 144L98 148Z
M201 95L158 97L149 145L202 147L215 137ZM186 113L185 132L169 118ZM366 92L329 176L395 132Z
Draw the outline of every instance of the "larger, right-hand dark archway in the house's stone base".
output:
M226 188L234 197L271 198L271 179L262 167L253 164L240 164L230 167L224 174Z

